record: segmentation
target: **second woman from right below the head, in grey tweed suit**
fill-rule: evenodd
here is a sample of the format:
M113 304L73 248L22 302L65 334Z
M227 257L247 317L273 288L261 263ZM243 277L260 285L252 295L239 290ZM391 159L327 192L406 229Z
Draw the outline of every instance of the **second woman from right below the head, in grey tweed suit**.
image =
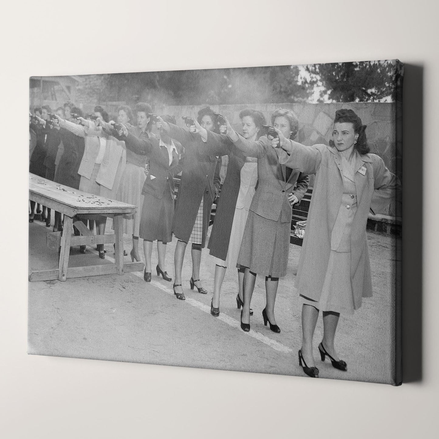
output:
M299 122L295 119L293 130L299 131ZM281 332L274 317L279 277L287 271L290 245L292 209L288 196L293 191L299 177L299 171L287 171L279 163L278 150L274 150L266 136L257 141L249 141L237 134L227 123L227 135L237 149L244 155L258 158L258 188L253 197L238 264L245 266L244 305L241 311L241 328L250 331L250 300L255 288L256 273L265 276L266 307L262 312L264 324L270 323L273 332ZM296 191L302 199L307 189Z

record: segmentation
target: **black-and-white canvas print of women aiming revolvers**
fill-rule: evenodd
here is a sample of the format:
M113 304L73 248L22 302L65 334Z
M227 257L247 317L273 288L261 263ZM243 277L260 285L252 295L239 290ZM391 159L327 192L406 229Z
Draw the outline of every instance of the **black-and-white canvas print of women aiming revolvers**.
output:
M402 84L32 76L29 354L400 384Z

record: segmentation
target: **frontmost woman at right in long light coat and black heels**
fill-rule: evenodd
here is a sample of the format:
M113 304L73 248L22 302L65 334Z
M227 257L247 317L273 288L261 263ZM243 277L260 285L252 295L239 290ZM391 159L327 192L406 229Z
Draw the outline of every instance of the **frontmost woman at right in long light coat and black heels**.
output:
M304 146L287 140L278 130L279 162L293 170L315 174L296 287L302 299L302 349L299 364L310 377L319 371L313 359L313 334L319 311L324 336L321 359L345 371L334 347L340 313L353 314L363 297L371 297L367 251L369 211L383 211L395 196L399 181L383 160L368 154L366 126L347 109L335 113L330 146Z

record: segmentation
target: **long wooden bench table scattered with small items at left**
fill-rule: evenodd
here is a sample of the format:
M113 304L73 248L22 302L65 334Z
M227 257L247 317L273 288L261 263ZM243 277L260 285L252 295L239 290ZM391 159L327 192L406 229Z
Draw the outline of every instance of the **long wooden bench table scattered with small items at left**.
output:
M29 200L47 206L64 214L64 230L61 234L61 249L58 269L32 271L29 281L65 281L70 277L87 277L101 274L123 274L125 271L143 270L142 262L123 263L123 221L124 214L134 213L136 206L64 186L45 178L29 174ZM75 226L85 236L72 236L73 220L76 215L99 214L112 217L114 234L93 235L81 221ZM59 234L59 232L52 232ZM68 268L71 245L115 244L115 264L104 264Z

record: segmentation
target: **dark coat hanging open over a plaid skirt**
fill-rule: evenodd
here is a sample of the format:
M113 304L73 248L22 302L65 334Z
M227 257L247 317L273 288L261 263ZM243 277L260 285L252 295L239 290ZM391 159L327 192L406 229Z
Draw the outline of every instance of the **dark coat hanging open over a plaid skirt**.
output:
M199 134L191 134L179 126L169 123L169 135L184 148L183 169L178 189L173 234L177 239L188 242L197 218L198 208L203 200L202 247L205 246L210 211L219 191L219 161L216 156L224 145L208 131L207 142ZM218 169L217 169L218 168Z

